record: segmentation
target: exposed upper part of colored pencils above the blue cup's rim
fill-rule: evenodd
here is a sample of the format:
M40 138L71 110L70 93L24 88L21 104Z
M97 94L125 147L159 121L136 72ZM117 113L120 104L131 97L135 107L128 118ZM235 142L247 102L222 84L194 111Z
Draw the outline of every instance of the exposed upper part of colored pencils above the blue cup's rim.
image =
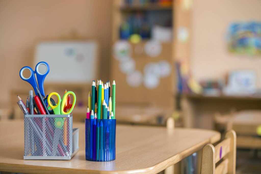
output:
M92 81L92 91L88 95L88 119L115 119L115 81L112 82L112 96L110 95L110 81L103 83L101 80Z

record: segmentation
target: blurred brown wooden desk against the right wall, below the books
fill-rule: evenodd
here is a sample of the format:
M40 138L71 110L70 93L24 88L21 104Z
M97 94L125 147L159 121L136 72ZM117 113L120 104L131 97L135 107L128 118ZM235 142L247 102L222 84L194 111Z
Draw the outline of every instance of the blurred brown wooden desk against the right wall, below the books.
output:
M227 113L232 109L261 109L260 96L206 96L195 94L176 95L178 107L181 108L184 127L214 129L215 112Z

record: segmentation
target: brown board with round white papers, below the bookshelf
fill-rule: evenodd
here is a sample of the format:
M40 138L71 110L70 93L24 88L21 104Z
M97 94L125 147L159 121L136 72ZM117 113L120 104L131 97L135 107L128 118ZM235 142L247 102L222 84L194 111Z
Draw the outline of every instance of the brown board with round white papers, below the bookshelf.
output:
M114 46L117 42L119 41L116 41ZM129 54L131 58L127 58L127 60L117 58L114 52L115 48L113 49L111 71L112 78L116 81L116 84L118 84L117 103L143 106L173 106L174 65L172 60L172 43L159 43L160 50L155 52L148 51L148 47L151 46L150 41L128 44L131 51L120 51L116 53ZM122 45L124 46L124 44ZM129 61L128 65L124 65L127 61ZM153 68L150 68L153 65L160 65L161 63L168 64L169 72L164 74L164 69L167 67L165 66L163 71L161 70L161 72L163 72L162 76L154 78L155 76L153 74L155 72L152 72ZM133 78L131 77L132 79L129 79L128 76L134 73L136 73L136 75L133 75Z

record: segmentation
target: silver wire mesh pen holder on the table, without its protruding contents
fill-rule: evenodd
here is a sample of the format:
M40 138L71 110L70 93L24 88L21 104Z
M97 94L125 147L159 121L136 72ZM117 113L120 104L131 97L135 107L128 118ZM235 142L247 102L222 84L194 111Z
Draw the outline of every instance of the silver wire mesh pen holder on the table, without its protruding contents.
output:
M79 129L73 130L73 114L25 115L24 124L23 159L69 160L79 149Z

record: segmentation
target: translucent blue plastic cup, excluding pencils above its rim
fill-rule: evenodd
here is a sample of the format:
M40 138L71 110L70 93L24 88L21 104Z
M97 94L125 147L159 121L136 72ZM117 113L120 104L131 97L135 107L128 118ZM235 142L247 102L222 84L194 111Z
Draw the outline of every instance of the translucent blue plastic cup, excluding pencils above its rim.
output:
M115 131L116 119L85 118L86 160L115 160Z

